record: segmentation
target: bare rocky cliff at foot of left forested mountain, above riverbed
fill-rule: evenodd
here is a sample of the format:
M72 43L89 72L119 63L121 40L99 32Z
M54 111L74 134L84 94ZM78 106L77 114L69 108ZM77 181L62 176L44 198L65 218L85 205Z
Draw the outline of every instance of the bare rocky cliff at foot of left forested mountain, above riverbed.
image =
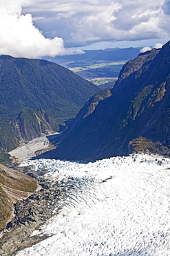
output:
M24 110L19 113L17 120L8 122L0 130L0 149L3 152L10 152L20 143L27 143L34 138L52 134L52 121L45 120L44 111L38 113L32 110Z

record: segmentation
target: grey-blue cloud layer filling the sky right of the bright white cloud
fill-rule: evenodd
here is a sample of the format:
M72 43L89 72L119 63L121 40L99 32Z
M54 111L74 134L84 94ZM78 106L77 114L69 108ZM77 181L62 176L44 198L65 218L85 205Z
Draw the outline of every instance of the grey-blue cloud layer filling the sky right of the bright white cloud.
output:
M66 47L78 47L167 38L169 6L164 0L36 0L23 14L32 13L46 37L62 37Z

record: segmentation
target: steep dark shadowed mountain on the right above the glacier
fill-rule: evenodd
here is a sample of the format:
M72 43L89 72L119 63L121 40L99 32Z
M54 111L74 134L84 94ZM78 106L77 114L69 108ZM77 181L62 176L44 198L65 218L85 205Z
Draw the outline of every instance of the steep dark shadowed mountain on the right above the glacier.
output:
M77 115L54 140L56 149L41 157L95 161L123 156L131 152L131 140L141 137L146 138L145 146L151 140L168 149L169 67L170 42L127 62L110 97L100 100L88 116L77 120Z

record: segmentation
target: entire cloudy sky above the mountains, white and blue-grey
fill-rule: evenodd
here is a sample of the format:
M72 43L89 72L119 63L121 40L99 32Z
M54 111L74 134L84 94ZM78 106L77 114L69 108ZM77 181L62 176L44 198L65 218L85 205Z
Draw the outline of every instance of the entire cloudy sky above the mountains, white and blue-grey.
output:
M0 54L151 47L169 41L169 22L169 0L0 0Z

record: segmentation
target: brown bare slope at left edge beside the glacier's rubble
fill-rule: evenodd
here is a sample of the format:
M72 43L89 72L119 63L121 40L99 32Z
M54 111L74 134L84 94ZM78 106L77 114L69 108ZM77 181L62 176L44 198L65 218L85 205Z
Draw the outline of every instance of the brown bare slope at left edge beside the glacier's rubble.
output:
M30 176L0 164L0 229L12 218L13 204L36 188L36 181Z

